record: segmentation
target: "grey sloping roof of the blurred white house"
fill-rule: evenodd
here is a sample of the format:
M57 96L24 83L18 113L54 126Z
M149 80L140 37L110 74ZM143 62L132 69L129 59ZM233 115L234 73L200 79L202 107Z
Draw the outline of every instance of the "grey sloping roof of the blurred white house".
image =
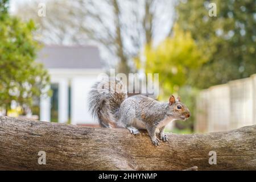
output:
M95 46L44 46L36 61L46 68L102 68L100 53Z

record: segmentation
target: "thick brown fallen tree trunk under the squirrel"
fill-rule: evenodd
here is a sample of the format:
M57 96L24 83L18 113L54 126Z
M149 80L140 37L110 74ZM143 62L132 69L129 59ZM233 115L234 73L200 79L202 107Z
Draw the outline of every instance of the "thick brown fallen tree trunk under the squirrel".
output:
M209 134L168 134L153 146L146 133L0 117L0 169L256 169L256 125ZM39 165L38 152L46 152ZM209 152L217 164L209 164Z

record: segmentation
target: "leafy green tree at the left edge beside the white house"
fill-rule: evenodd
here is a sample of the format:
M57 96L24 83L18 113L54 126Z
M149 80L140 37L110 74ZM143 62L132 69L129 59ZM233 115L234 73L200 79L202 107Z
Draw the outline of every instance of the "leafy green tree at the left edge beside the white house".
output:
M0 107L10 109L12 101L31 106L32 100L48 93L49 76L42 64L36 63L39 44L33 39L35 25L12 17L0 2Z

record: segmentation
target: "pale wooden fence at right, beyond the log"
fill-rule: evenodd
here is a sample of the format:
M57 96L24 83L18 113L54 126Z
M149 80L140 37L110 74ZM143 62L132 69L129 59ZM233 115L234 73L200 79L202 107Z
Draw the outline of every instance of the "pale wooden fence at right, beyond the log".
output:
M197 97L195 130L226 131L256 124L256 74L202 90Z

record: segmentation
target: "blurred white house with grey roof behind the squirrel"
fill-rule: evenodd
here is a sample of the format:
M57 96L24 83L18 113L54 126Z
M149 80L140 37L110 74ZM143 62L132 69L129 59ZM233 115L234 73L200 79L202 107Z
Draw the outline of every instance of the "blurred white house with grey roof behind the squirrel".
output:
M88 111L88 92L103 72L94 46L45 46L36 60L51 76L52 97L40 98L40 121L97 124Z

